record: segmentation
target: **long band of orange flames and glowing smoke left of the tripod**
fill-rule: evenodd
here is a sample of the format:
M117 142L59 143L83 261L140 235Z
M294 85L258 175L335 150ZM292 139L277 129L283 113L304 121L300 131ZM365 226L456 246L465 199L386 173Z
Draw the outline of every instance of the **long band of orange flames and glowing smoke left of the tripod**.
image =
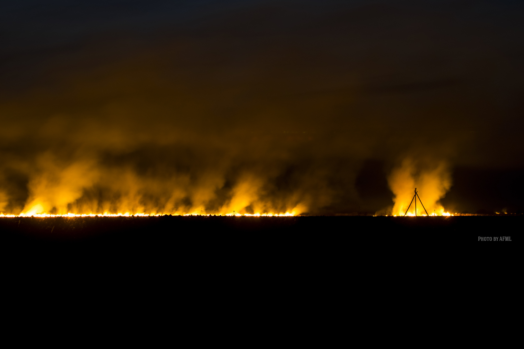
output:
M42 154L29 181L29 197L20 213L5 215L6 196L0 192L0 217L88 216L296 216L308 210L299 198L275 205L264 197L264 179L255 174L239 176L231 196L213 205L216 191L224 185L218 173L193 179L173 174L156 181L130 168L107 169L94 159L61 163L50 153ZM96 188L106 199L92 197ZM152 199L151 199L152 198ZM189 198L189 202L188 202Z

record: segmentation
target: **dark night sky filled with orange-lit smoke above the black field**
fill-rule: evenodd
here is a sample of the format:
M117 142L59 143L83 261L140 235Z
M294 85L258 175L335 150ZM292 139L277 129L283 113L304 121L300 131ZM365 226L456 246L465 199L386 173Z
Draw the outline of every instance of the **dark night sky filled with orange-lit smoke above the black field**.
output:
M418 185L434 209L522 211L523 15L3 2L0 210L384 213Z

